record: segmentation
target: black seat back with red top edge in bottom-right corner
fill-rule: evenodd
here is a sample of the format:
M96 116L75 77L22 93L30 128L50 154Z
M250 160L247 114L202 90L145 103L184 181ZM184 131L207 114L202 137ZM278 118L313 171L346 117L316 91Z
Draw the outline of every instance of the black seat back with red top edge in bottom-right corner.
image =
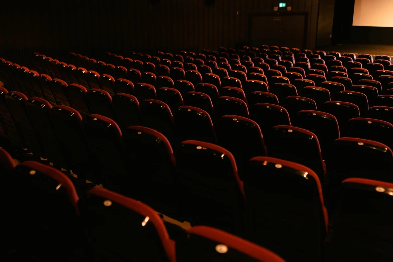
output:
M332 259L335 261L392 258L391 219L393 183L348 178L340 185L339 206L333 220ZM386 230L388 229L388 230Z

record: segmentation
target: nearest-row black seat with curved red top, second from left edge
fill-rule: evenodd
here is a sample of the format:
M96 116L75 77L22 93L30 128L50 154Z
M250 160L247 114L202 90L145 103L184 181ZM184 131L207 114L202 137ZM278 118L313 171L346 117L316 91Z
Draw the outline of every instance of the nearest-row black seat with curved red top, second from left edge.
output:
M59 253L62 261L78 259L75 245L81 247L84 241L78 223L79 197L72 181L59 170L34 161L19 164L12 180L8 196L18 201L5 211L12 222L4 237L10 240L12 235L23 235L18 238L18 252L37 260L50 261ZM29 219L20 222L26 216ZM62 233L54 234L58 227Z

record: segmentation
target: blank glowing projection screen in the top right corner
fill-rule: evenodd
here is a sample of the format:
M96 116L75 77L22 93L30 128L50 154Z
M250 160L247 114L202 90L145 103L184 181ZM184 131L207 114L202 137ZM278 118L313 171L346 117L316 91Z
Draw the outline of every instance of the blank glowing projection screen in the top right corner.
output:
M393 27L393 0L355 0L352 25Z

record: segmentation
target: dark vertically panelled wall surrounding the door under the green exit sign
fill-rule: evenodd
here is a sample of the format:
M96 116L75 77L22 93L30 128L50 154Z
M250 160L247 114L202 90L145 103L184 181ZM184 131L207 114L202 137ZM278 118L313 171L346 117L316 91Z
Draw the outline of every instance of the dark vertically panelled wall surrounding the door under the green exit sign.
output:
M314 48L319 0L286 0L308 12L307 47ZM216 50L248 42L249 15L273 12L278 0L14 1L0 11L5 50ZM237 13L238 12L238 13ZM262 44L262 43L260 43Z

